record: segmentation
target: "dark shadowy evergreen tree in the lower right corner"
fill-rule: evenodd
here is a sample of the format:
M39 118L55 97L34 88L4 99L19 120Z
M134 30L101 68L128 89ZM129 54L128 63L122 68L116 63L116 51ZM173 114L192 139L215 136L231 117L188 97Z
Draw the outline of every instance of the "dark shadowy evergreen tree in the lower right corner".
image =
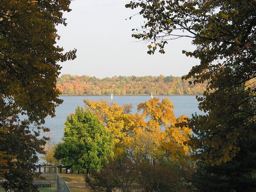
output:
M197 132L194 137L204 139L208 137L207 132ZM214 135L213 135L214 136ZM209 192L253 192L256 190L256 150L255 140L239 141L241 148L232 160L219 165L209 165L204 160L197 161L197 171L192 176L192 183L196 191ZM204 146L194 153L206 153L214 146Z

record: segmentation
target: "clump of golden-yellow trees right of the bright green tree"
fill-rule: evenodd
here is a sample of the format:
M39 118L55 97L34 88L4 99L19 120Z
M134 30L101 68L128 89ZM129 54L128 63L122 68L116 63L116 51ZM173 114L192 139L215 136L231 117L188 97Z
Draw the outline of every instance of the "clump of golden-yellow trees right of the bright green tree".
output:
M188 155L189 148L183 142L189 139L191 130L177 126L187 121L188 117L176 119L174 106L168 98L160 102L159 98L154 97L140 103L136 114L131 114L131 104L121 107L105 99L87 99L84 102L115 138L116 156L127 151L134 156L150 156L152 159L177 159ZM139 112L142 112L141 115Z

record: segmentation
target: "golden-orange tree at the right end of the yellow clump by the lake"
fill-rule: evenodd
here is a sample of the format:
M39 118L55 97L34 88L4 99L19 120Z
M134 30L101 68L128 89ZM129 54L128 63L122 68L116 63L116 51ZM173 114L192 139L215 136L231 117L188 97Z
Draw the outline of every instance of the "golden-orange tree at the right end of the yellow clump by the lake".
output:
M144 103L138 105L138 111L142 111L143 118L146 118L147 131L164 131L164 140L161 148L165 150L165 155L169 158L177 159L185 157L189 153L189 147L185 146L183 142L189 140L191 129L188 126L180 126L179 124L186 124L188 116L180 116L175 118L173 109L174 106L168 98L162 99L154 97ZM160 132L159 132L160 133ZM158 136L158 138L161 138Z

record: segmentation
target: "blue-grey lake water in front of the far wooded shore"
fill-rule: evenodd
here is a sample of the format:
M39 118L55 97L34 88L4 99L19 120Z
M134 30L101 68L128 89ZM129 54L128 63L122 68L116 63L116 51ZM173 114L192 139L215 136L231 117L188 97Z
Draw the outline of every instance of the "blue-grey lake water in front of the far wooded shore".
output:
M119 106L132 103L134 106L132 113L137 112L137 105L139 103L150 100L149 95L120 95L113 97L114 102ZM156 97L159 97L160 101L165 97L172 101L172 104L174 105L173 111L176 118L181 115L191 117L191 115L195 112L198 115L203 114L203 112L197 108L198 101L196 100L195 95L159 95ZM61 142L64 131L64 123L66 121L67 115L74 113L78 105L85 107L83 100L87 98L89 100L99 100L100 98L106 98L110 100L110 96L60 96L60 99L63 99L64 101L59 107L56 108L56 116L54 118L46 117L44 124L45 127L50 128L52 131L51 137L55 143Z

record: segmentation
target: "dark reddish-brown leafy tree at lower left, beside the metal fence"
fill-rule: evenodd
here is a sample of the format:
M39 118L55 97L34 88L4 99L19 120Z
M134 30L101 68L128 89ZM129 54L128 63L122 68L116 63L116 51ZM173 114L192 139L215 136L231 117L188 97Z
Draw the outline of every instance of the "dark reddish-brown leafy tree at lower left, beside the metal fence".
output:
M40 128L40 127L38 127ZM44 153L45 138L38 139L39 131L37 127L31 128L30 121L23 120L18 122L17 117L6 120L1 129L5 131L0 134L4 140L1 141L0 151L6 151L3 157L6 161L0 165L3 169L1 178L8 183L28 183L33 184L34 178L39 178L40 173L36 171L34 164L37 163L37 153ZM8 150L7 150L8 149ZM7 157L6 157L7 155ZM24 185L8 185L5 190L12 191L31 191ZM33 189L36 191L37 189Z

